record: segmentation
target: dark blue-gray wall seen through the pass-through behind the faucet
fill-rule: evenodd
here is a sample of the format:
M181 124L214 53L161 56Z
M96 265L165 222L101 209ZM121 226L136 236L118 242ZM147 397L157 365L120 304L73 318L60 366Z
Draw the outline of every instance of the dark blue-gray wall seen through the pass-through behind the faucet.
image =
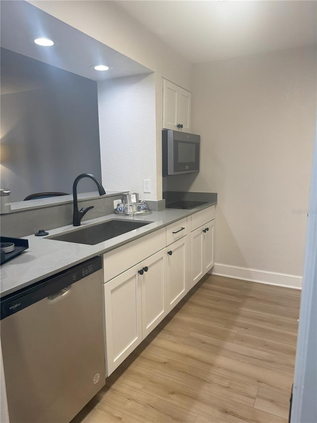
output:
M1 187L11 201L101 180L97 83L1 49ZM3 94L5 92L5 94ZM79 192L94 191L90 180Z

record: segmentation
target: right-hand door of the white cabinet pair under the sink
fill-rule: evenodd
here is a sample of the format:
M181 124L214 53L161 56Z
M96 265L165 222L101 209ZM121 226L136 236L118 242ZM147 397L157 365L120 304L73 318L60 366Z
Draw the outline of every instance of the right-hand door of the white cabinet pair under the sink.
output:
M143 339L166 316L166 252L165 248L141 263L142 333Z

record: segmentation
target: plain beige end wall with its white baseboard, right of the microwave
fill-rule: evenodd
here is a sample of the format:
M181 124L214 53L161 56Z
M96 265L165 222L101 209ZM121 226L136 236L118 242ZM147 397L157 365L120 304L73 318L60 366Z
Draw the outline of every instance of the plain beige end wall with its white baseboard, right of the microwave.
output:
M316 71L313 48L195 66L202 155L190 190L218 192L215 272L301 284L276 273L303 272Z

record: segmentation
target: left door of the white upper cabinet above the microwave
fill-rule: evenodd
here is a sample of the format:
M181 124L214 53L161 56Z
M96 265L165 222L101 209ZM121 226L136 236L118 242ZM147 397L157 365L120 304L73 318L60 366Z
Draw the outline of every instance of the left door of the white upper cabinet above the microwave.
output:
M177 93L178 87L163 79L163 128L177 129Z

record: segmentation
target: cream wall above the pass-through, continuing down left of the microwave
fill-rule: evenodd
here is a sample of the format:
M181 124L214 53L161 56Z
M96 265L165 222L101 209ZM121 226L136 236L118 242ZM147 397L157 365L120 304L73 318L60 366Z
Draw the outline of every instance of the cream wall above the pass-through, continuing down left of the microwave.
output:
M29 1L40 9L90 35L114 50L155 71L156 86L156 186L161 198L162 77L191 91L192 64L167 46L112 1ZM137 148L138 146L136 146ZM142 149L139 148L142 155ZM128 158L122 157L122 161ZM109 188L112 189L111 186Z

